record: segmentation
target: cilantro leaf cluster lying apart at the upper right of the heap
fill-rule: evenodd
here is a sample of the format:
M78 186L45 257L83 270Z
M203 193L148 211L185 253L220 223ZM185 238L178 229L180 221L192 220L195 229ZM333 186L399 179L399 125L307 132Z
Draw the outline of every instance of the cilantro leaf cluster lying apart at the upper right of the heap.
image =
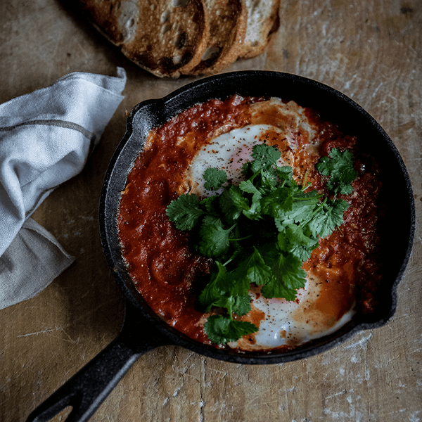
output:
M357 177L353 165L353 154L348 150L342 153L340 149L333 148L329 157L321 158L316 169L330 178L327 184L328 189L334 193L349 195L353 191L351 183Z

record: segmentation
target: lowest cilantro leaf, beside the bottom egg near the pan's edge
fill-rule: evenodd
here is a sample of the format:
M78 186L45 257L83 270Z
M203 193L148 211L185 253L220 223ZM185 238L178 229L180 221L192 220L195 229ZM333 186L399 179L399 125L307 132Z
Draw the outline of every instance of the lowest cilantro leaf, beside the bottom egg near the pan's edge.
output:
M258 328L250 322L236 321L226 315L212 315L205 322L204 331L212 343L222 345L236 341L243 335L256 333Z

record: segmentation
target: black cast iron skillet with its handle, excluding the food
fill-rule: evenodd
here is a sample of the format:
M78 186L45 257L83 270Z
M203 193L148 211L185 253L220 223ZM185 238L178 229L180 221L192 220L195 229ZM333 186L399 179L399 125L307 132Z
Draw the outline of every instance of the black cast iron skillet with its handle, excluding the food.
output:
M292 99L301 106L319 110L326 120L340 125L343 133L357 135L362 146L374 155L381 167L384 186L388 186L388 207L383 226L383 305L376 314L357 314L336 333L314 340L284 353L242 353L217 350L197 343L167 326L146 305L134 289L120 255L116 216L127 173L143 148L151 128L196 103L210 98L243 96L278 96ZM391 200L393 198L393 200ZM241 364L276 364L311 357L352 337L359 331L386 324L397 306L397 285L404 275L414 240L414 196L409 175L394 144L373 118L350 98L324 84L280 72L231 72L187 84L157 100L138 104L127 119L127 131L108 167L100 201L100 231L103 249L115 281L122 290L126 311L122 331L117 338L68 382L35 409L28 421L47 421L71 406L68 421L87 421L141 354L161 345L180 345L207 357Z

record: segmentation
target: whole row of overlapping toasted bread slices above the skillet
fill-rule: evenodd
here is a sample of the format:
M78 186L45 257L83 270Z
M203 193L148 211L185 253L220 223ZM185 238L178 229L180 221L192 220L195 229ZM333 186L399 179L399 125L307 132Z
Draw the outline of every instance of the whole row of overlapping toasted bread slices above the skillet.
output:
M212 75L253 58L279 29L281 0L77 0L129 60L158 77Z

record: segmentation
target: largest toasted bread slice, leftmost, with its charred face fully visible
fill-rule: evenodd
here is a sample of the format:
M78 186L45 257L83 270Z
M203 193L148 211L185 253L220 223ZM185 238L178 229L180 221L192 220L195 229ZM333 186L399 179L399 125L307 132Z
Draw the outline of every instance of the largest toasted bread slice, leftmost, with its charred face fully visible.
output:
M127 58L158 77L201 61L210 24L203 0L79 0L89 20Z

